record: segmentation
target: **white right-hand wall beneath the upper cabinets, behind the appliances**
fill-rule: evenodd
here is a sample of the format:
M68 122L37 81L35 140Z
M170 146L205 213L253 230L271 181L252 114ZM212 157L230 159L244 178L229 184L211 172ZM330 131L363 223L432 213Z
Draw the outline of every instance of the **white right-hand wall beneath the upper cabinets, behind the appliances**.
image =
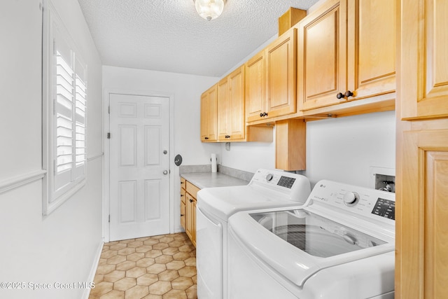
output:
M275 138L274 138L275 140ZM275 167L275 145L221 145L222 165L255 172ZM395 112L307 123L307 170L311 184L330 179L372 188L371 167L395 169Z

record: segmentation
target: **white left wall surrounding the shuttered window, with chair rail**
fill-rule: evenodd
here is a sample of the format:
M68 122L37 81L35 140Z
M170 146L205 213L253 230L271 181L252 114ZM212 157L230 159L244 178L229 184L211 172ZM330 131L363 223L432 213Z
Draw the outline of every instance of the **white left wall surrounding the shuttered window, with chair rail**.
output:
M42 181L21 177L42 169L41 1L3 1L0 10L0 281L51 284L52 289L0 288L0 298L82 298L84 289L56 282L90 281L102 245L102 69L76 0L54 0L87 60L87 183L42 216ZM97 157L97 158L95 158Z

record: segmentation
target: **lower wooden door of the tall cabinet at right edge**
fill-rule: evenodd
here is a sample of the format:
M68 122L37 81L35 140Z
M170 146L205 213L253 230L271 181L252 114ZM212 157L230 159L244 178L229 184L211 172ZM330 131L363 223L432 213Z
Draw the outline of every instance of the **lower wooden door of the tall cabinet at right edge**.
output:
M448 130L404 132L402 148L395 298L446 298Z

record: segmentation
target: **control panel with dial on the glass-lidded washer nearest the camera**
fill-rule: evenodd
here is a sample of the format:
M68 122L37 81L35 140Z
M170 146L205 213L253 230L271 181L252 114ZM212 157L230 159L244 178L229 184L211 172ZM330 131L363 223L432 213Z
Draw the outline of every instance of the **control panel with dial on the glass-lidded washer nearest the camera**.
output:
M395 221L395 193L322 180L309 195L309 204L338 207L368 218Z

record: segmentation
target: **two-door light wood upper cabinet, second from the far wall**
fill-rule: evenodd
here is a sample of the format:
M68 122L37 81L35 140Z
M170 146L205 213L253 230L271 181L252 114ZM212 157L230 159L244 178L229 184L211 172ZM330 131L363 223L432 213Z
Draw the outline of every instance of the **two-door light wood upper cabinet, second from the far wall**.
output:
M218 83L218 140L244 141L244 66Z

